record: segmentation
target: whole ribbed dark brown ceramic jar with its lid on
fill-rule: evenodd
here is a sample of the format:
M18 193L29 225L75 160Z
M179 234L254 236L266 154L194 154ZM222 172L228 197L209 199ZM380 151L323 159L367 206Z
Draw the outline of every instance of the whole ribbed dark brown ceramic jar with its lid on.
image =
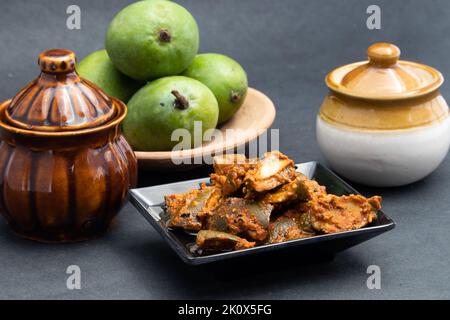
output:
M29 239L96 237L136 183L120 129L127 109L77 75L73 52L43 52L39 65L39 77L0 104L0 212Z

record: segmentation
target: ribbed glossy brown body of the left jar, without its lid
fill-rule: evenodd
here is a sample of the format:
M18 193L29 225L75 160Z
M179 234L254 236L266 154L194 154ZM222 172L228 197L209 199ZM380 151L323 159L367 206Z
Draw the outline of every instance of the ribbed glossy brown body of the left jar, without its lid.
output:
M0 123L0 212L23 237L72 242L99 236L136 179L136 158L120 122L48 136Z

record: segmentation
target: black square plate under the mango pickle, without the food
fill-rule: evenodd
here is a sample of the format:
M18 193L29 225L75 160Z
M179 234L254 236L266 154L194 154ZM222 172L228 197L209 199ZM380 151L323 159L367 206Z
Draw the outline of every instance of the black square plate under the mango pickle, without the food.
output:
M358 194L346 182L336 176L326 167L317 162L297 164L297 170L310 179L316 180L327 188L329 193L335 195ZM201 182L209 182L209 178L182 181L153 187L132 189L131 202L139 212L150 222L170 247L183 259L192 265L204 264L229 258L256 255L279 250L288 250L295 254L314 252L320 254L334 254L356 244L373 238L383 232L394 228L395 223L383 211L378 212L378 219L364 228L333 234L318 235L311 238L297 239L282 243L261 245L250 249L223 252L199 256L190 248L195 244L195 234L182 230L171 230L165 226L166 215L162 209L164 196L182 193L198 188Z

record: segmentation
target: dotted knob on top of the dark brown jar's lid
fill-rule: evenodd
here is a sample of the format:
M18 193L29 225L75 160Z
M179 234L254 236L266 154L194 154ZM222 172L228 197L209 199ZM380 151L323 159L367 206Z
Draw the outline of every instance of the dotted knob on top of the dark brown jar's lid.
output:
M75 70L75 53L67 49L51 49L41 52L38 64L42 72L57 74Z

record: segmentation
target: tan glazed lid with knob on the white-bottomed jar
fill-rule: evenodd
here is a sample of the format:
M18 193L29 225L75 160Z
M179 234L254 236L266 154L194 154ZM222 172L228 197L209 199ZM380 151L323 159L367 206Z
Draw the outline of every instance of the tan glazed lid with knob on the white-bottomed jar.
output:
M367 49L368 61L356 62L330 72L325 82L348 96L376 100L421 96L438 89L444 78L436 69L399 60L400 49L390 43L375 43Z

